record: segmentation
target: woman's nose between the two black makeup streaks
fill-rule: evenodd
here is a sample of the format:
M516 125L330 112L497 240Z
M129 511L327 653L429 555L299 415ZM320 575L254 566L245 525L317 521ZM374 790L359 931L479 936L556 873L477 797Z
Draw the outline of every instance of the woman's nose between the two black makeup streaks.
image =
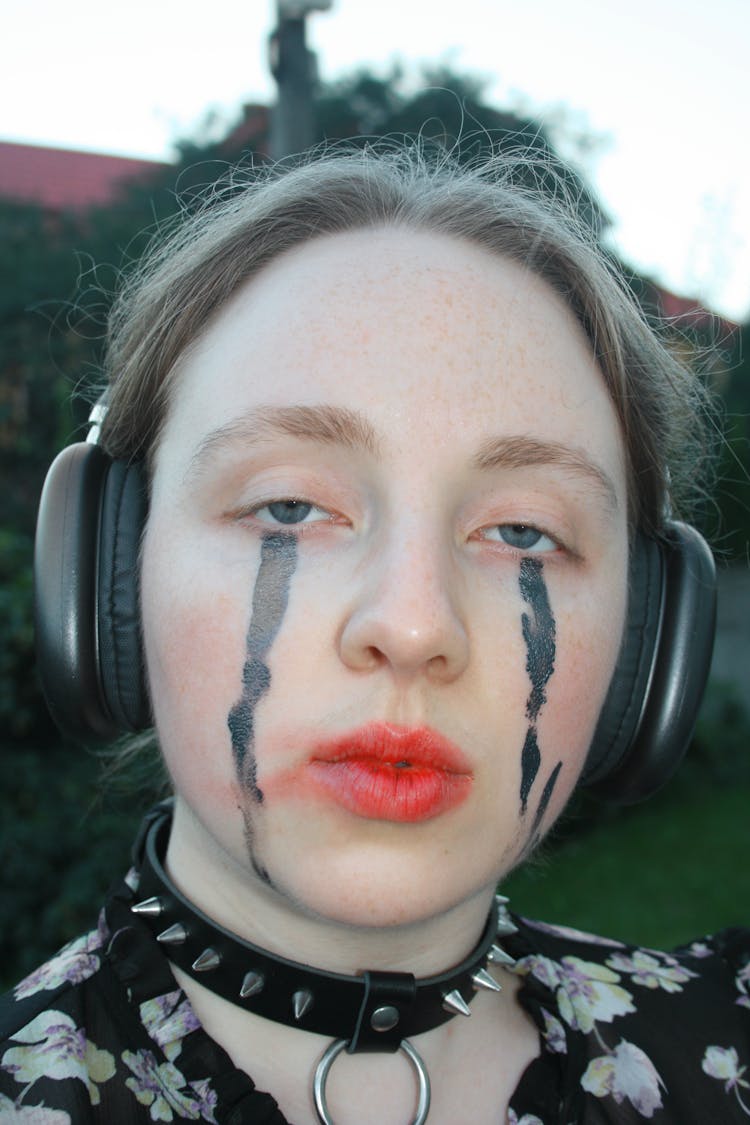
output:
M388 667L401 680L454 680L469 660L460 594L444 544L394 534L363 568L340 634L342 660L355 670Z

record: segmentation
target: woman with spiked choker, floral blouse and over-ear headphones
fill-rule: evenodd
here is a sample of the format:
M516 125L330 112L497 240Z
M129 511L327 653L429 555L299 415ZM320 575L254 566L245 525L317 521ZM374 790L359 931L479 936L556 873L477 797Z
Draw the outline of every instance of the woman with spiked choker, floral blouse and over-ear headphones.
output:
M100 448L38 548L112 539L100 663L47 690L79 729L143 726L142 623L174 802L98 933L17 988L7 1119L750 1113L747 935L668 956L495 898L581 776L666 768L639 764L663 701L630 695L677 656L641 668L629 559L639 592L703 565L666 526L693 385L563 210L353 154L198 216L125 294Z

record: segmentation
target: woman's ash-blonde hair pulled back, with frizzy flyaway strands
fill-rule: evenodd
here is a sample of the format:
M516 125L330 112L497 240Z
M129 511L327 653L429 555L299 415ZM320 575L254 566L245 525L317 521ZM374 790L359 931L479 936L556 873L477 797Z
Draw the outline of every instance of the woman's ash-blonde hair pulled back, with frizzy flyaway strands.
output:
M101 444L151 465L177 363L249 278L326 234L404 227L453 235L521 263L586 333L629 457L633 525L658 534L685 511L705 453L699 380L660 342L550 168L500 155L475 166L418 145L336 151L215 190L130 278L114 305ZM540 187L543 181L544 187Z

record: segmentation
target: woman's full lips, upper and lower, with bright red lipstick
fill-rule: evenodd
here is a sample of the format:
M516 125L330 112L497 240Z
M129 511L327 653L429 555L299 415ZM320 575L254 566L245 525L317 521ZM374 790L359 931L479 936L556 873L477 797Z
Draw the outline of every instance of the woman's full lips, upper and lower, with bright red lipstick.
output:
M468 798L471 774L435 763L433 753L397 747L391 757L347 746L342 756L316 756L308 770L336 803L369 820L416 824L442 816Z

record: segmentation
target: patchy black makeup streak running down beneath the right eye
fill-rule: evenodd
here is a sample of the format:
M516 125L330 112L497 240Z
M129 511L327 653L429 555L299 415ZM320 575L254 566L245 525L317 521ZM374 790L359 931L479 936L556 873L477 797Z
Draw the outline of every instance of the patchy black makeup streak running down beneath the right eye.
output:
M523 613L521 618L521 628L526 642L526 672L531 680L531 693L526 700L528 730L521 752L521 812L524 814L528 804L528 794L542 760L536 742L536 720L546 702L546 683L554 672L555 627L544 584L541 559L524 558L521 560L518 585L522 597L530 609L530 612ZM553 776L557 780L557 774ZM552 778L550 780L552 781ZM549 784L548 782L548 786ZM546 788L544 792L546 793ZM549 802L552 790L550 789L546 802ZM544 795L542 795L542 801L544 801ZM546 803L544 808L546 808ZM543 813L544 809L542 809ZM539 813L537 816L541 820L541 816Z

